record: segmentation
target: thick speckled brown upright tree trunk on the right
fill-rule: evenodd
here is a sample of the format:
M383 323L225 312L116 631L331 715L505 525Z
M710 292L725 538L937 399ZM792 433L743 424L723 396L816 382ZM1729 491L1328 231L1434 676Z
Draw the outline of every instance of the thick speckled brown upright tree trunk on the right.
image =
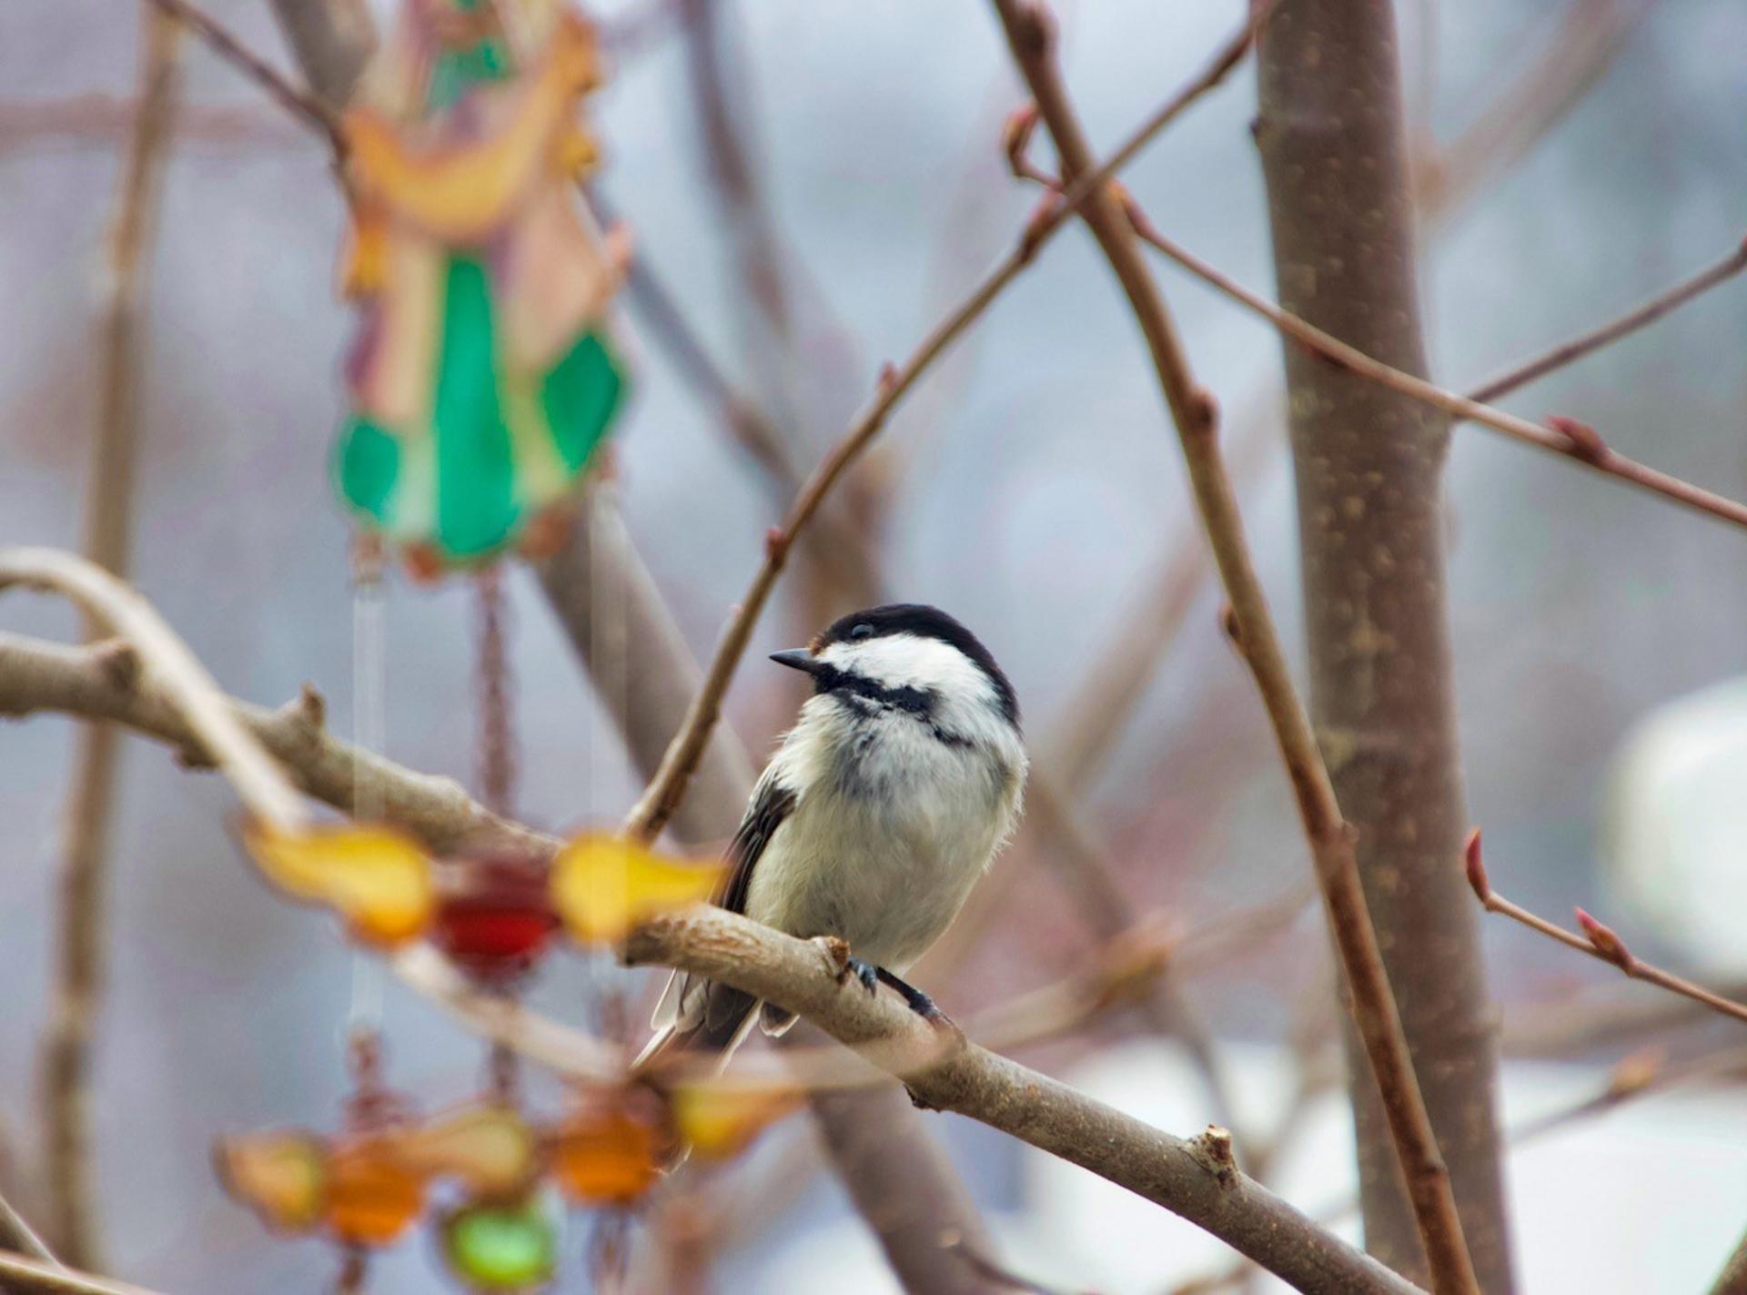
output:
M1256 143L1286 309L1426 372L1389 0L1281 0L1260 44ZM1450 687L1440 479L1448 423L1288 343L1310 706L1474 1271L1511 1290L1497 1040ZM1366 1244L1426 1278L1377 1091L1349 1031Z

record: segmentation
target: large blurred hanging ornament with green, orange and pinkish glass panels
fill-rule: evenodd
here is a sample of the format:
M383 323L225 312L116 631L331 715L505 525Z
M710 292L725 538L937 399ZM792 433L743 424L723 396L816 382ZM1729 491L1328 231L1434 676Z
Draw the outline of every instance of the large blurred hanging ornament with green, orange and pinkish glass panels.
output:
M563 533L618 407L622 250L580 206L599 80L556 0L421 0L344 121L358 304L337 493L426 573Z

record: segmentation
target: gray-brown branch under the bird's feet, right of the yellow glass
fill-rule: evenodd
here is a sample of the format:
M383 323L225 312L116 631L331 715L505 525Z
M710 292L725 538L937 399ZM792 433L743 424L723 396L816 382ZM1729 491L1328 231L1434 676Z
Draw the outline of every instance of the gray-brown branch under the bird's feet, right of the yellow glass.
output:
M940 1029L896 998L842 980L830 942L697 907L634 931L625 961L723 980L805 1015L851 1047L874 1045L870 1059L901 1077L917 1101L1003 1129L1162 1204L1298 1290L1415 1290L1246 1178L1223 1131L1172 1138L975 1043L942 1057Z

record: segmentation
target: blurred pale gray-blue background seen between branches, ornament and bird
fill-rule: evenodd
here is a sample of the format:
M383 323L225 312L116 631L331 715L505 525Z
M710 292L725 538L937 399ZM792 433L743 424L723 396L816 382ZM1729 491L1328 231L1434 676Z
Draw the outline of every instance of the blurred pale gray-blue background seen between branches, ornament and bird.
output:
M264 3L210 7L292 66ZM93 0L5 9L0 544L75 547L138 10ZM1101 149L1240 17L1214 0L1062 0L1057 10L1066 75ZM880 364L908 353L1006 253L1036 201L999 156L1001 121L1024 91L994 19L987 5L936 0L718 0L706 44L666 0L594 12L627 33L590 100L606 149L597 189L734 388L809 467ZM1424 0L1401 5L1399 19L1440 381L1471 384L1742 238L1747 9L1735 0ZM720 73L746 147L751 189L739 201L723 196L704 129L701 59ZM1253 110L1246 66L1125 180L1162 229L1272 295ZM346 734L351 537L327 479L351 325L334 295L342 204L320 142L197 44L185 52L180 117L148 271L133 570L225 689L278 704L313 682ZM779 252L781 325L748 285L758 238ZM1244 446L1246 517L1302 661L1279 343L1198 285L1160 276ZM618 505L692 648L708 655L786 496L631 294L617 327L632 370ZM1744 339L1747 285L1724 285L1504 404L1583 418L1628 454L1742 496ZM1139 334L1081 229L1053 241L926 377L849 491L870 519L884 587L977 629L1013 676L1039 758L1108 738L1083 762L1076 800L1136 912L1167 909L1193 928L1303 886L1286 783L1211 587L1148 668L1120 731L1076 729L1088 680L1139 650L1127 627L1193 544ZM1735 935L1747 804L1742 537L1478 428L1457 433L1448 505L1467 800L1494 883L1558 919L1590 907L1637 952L1712 982L1747 975ZM515 570L508 592L521 809L549 828L617 821L639 779L611 718L536 582ZM802 577L777 598L728 694L728 722L755 758L798 701L763 654L851 610ZM397 575L386 620L386 753L470 779L468 589ZM0 601L0 629L66 640L79 626L58 603L14 594ZM35 1047L73 732L56 717L0 729L0 1173L26 1202L42 1152ZM208 1146L225 1131L332 1120L353 965L330 923L255 879L234 820L220 781L126 741L93 1089L105 1248L117 1276L166 1292L320 1290L327 1257L271 1241L229 1204ZM928 986L949 1012L1052 980L1090 947L1031 855L1020 841L999 865L1020 872L1005 907L950 984ZM1488 919L1483 931L1509 1127L1600 1092L1609 1068L1644 1045L1674 1066L1735 1042L1728 1022L1682 1014L1522 928ZM1324 944L1305 911L1183 980L1256 1136L1293 1105L1302 1071L1336 1080L1310 1084L1270 1174L1312 1211L1338 1206L1352 1180ZM533 998L575 1017L578 986L608 972L559 963ZM383 1019L393 1082L433 1101L477 1082L477 1045L432 1008L388 989ZM1162 1127L1193 1132L1211 1118L1181 1052L1132 1019L1034 1054ZM1027 1274L1164 1292L1223 1262L1216 1243L1078 1169L957 1117L931 1127ZM804 1159L788 1145L809 1138L790 1120L734 1173ZM1513 1152L1509 1173L1529 1290L1696 1290L1747 1220L1747 1103L1738 1089L1674 1087L1543 1132ZM730 1237L718 1288L814 1290L823 1257L839 1292L894 1290L840 1188L816 1174ZM566 1283L585 1288L578 1272ZM437 1290L423 1243L381 1265L377 1288Z

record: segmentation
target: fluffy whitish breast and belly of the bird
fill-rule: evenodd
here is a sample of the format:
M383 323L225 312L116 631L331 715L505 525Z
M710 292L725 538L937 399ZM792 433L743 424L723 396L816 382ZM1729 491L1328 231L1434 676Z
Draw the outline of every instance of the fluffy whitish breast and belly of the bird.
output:
M746 912L837 935L903 972L952 923L1013 828L1025 757L991 720L943 741L901 711L812 697L770 776L805 788L753 869Z

